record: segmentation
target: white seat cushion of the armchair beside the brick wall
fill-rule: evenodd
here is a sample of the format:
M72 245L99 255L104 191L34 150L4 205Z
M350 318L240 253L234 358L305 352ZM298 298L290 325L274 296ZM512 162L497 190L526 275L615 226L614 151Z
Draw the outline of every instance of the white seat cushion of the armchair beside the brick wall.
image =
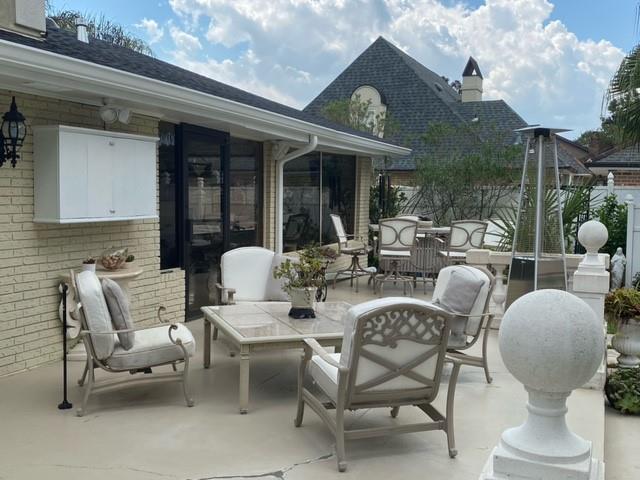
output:
M189 357L192 357L196 351L193 335L181 323L177 325L178 329L171 332L173 338L181 339ZM169 325L139 330L136 334L136 342L130 350L125 350L119 342L116 344L113 355L105 362L108 366L117 370L132 370L183 360L182 349L169 339Z

